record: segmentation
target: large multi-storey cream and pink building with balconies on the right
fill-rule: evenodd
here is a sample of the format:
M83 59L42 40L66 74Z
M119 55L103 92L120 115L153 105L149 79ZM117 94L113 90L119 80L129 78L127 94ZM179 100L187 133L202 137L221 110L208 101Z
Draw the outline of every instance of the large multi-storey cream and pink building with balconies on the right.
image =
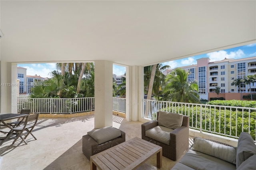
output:
M199 94L202 99L217 97L216 87L220 87L219 97L226 100L241 99L240 90L232 85L234 79L244 79L247 75L256 74L256 57L243 59L223 59L210 62L209 58L197 59L196 65L180 67L190 71L188 81L198 80ZM249 85L243 84L241 92L243 95L250 94L250 91L256 93L256 83ZM246 94L247 93L247 94Z

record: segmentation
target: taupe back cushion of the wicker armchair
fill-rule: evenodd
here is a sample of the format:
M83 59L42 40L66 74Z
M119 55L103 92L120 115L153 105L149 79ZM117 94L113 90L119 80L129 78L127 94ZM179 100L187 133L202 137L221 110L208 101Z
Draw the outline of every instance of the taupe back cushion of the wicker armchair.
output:
M178 113L159 111L158 125L175 129L182 126L183 115Z

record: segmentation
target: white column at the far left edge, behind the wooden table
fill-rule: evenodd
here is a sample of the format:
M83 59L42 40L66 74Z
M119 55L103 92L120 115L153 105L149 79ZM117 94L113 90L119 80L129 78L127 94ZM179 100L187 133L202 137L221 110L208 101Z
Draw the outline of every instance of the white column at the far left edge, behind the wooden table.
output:
M17 64L1 61L0 113L17 113Z

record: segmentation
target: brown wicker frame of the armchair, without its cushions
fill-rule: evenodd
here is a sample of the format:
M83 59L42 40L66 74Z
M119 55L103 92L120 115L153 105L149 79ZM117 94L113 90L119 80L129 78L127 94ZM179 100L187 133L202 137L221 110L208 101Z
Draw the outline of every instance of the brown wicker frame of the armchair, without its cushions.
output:
M149 121L141 125L142 139L162 146L163 156L175 161L188 149L189 117L183 116L182 126L170 132L170 145L168 145L146 136L146 130L158 126L158 115L159 113L157 113L156 121Z

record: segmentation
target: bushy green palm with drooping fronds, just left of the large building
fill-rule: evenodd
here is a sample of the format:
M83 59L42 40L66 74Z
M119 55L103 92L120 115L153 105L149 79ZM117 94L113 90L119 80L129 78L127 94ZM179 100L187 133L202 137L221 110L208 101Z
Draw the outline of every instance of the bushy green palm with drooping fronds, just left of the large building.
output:
M170 101L200 103L197 81L188 82L189 71L176 68L166 76L164 92L169 94Z

